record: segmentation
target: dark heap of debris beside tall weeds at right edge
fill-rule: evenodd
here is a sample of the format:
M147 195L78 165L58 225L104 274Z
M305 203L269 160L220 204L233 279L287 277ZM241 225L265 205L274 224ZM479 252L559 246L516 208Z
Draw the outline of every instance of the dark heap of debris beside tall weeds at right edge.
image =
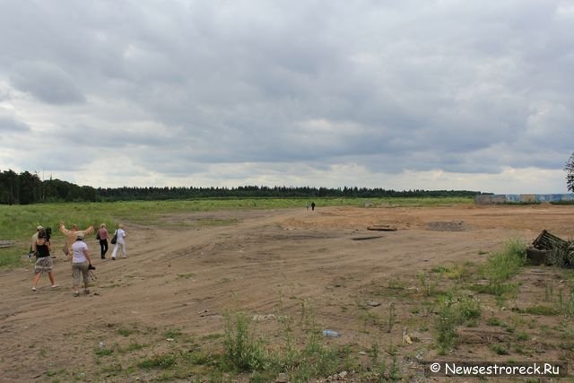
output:
M574 266L574 240L564 240L544 230L526 248L526 257L534 265Z

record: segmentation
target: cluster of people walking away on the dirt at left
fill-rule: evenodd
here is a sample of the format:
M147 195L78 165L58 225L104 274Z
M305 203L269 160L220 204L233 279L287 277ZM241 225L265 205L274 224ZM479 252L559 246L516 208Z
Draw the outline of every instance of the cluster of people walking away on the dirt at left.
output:
M74 296L80 295L79 286L81 280L83 280L83 292L85 294L90 293L90 270L95 269L91 265L91 254L88 245L84 242L87 235L94 232L93 226L79 231L76 225L72 225L70 229L65 228L64 222L60 222L60 231L65 236L65 245L63 248L65 257L71 257L72 261L72 278L73 278L73 290ZM54 279L53 273L53 262L52 262L52 246L50 243L51 231L44 229L42 226L36 228L36 233L32 235L30 243L30 254L33 254L36 259L36 265L34 266L34 281L32 283L32 291L35 292L39 283L39 279L42 274L48 274L51 286L53 289L58 287ZM106 259L106 253L108 252L108 239L109 232L106 229L106 224L102 223L100 229L98 230L96 239L100 242L100 257L101 259ZM126 231L122 224L117 226L117 230L114 232L114 237L111 239L112 244L115 245L112 250L111 259L116 260L117 251L120 251L122 257L126 258Z

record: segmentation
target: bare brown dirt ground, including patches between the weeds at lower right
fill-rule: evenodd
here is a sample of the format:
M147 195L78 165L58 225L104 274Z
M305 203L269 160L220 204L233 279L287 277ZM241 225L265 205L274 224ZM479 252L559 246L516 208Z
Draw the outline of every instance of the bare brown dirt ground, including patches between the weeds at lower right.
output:
M238 309L260 316L257 332L271 343L280 342L279 315L302 318L302 308L312 309L320 329L341 333L327 342L359 352L377 343L396 356L405 379L424 380L422 361L436 359L571 361L574 342L563 346L562 316L520 314L483 296L479 326L460 330L457 349L439 356L422 275L433 281L431 271L440 265L481 264L509 239L530 243L543 229L571 239L573 223L574 206L554 205L318 206L315 212L181 212L158 227L126 222L126 259L101 260L96 240L86 241L97 267L90 295L73 297L71 267L61 253L57 289L42 276L32 292L31 263L0 272L0 380L155 379L159 373L135 367L137 361L182 348L215 350L224 314ZM367 230L372 225L397 231ZM54 248L62 240L57 233ZM560 273L527 267L508 306L543 304L548 286L556 295L566 285ZM484 325L491 317L512 321L517 331ZM385 325L387 318L393 326ZM413 344L404 343L404 330ZM515 338L520 332L527 335L522 341ZM115 352L99 354L100 342ZM509 354L494 353L496 342L508 344ZM130 344L142 347L130 351ZM358 353L360 362L365 355Z

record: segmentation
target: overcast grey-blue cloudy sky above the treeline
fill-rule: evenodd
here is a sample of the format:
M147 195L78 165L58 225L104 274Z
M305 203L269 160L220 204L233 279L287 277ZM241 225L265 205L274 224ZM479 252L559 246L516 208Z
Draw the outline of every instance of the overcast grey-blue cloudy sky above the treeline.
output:
M0 170L566 193L574 1L0 0Z

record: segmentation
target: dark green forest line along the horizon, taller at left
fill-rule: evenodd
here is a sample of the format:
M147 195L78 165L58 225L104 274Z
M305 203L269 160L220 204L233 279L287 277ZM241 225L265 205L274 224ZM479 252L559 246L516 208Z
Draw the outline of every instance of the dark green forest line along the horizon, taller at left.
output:
M158 201L195 198L251 197L441 197L476 196L470 190L403 190L380 187L80 187L60 179L41 180L38 174L13 170L0 172L0 204L30 205L45 202Z

